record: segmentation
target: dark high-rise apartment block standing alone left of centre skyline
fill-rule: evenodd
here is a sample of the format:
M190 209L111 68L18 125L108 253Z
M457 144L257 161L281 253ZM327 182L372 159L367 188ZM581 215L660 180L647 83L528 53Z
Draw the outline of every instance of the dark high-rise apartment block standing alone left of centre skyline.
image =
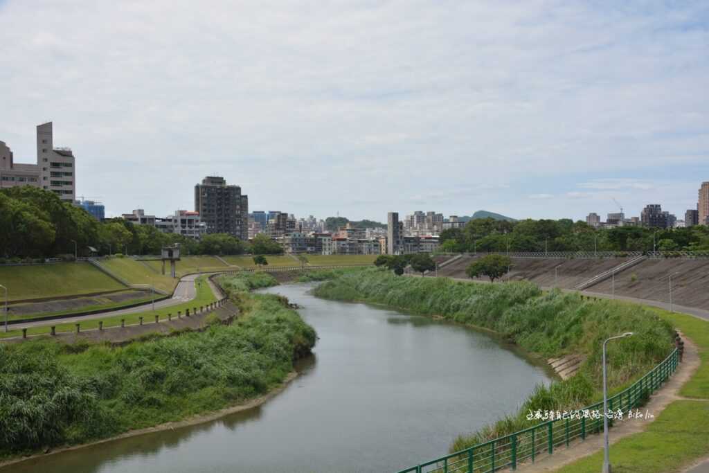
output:
M241 187L227 185L223 177L207 176L194 186L194 209L207 233L228 233L240 240L249 238L249 200Z

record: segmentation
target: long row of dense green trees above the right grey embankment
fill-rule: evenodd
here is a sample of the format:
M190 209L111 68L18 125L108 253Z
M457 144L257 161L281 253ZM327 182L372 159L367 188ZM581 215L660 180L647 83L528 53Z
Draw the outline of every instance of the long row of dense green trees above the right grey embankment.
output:
M637 226L593 228L586 222L479 218L463 228L443 230L441 249L449 252L495 251L707 251L709 227L658 230Z

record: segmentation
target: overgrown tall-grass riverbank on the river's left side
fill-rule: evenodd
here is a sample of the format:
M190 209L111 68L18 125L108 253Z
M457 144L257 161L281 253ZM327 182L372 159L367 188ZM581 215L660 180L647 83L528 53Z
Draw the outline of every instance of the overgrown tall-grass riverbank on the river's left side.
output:
M124 347L0 345L0 457L217 411L283 382L315 344L313 328L282 298L228 291L245 308L233 325Z

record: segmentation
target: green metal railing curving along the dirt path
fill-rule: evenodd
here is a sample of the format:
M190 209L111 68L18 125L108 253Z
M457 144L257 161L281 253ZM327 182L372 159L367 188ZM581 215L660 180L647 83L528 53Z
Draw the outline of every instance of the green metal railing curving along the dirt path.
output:
M616 413L620 409L625 416L630 409L640 407L649 394L669 379L678 363L679 353L675 349L632 386L610 397L608 411ZM598 411L601 416L588 418L582 415L580 418L574 416L546 421L460 452L402 469L398 473L494 473L501 469L517 469L523 462L533 463L541 457L552 455L559 447L572 446L573 440L584 440L588 435L603 432L603 401L574 413L579 411ZM613 425L610 418L608 425Z

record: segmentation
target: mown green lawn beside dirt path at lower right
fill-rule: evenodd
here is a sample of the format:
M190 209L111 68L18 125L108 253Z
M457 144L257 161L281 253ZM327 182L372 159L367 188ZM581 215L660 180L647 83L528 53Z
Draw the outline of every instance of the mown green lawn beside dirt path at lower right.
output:
M682 386L681 396L699 401L674 401L642 433L610 447L613 472L680 472L709 455L709 322L681 313L650 308L696 343L701 365ZM603 450L558 469L559 473L597 473Z

